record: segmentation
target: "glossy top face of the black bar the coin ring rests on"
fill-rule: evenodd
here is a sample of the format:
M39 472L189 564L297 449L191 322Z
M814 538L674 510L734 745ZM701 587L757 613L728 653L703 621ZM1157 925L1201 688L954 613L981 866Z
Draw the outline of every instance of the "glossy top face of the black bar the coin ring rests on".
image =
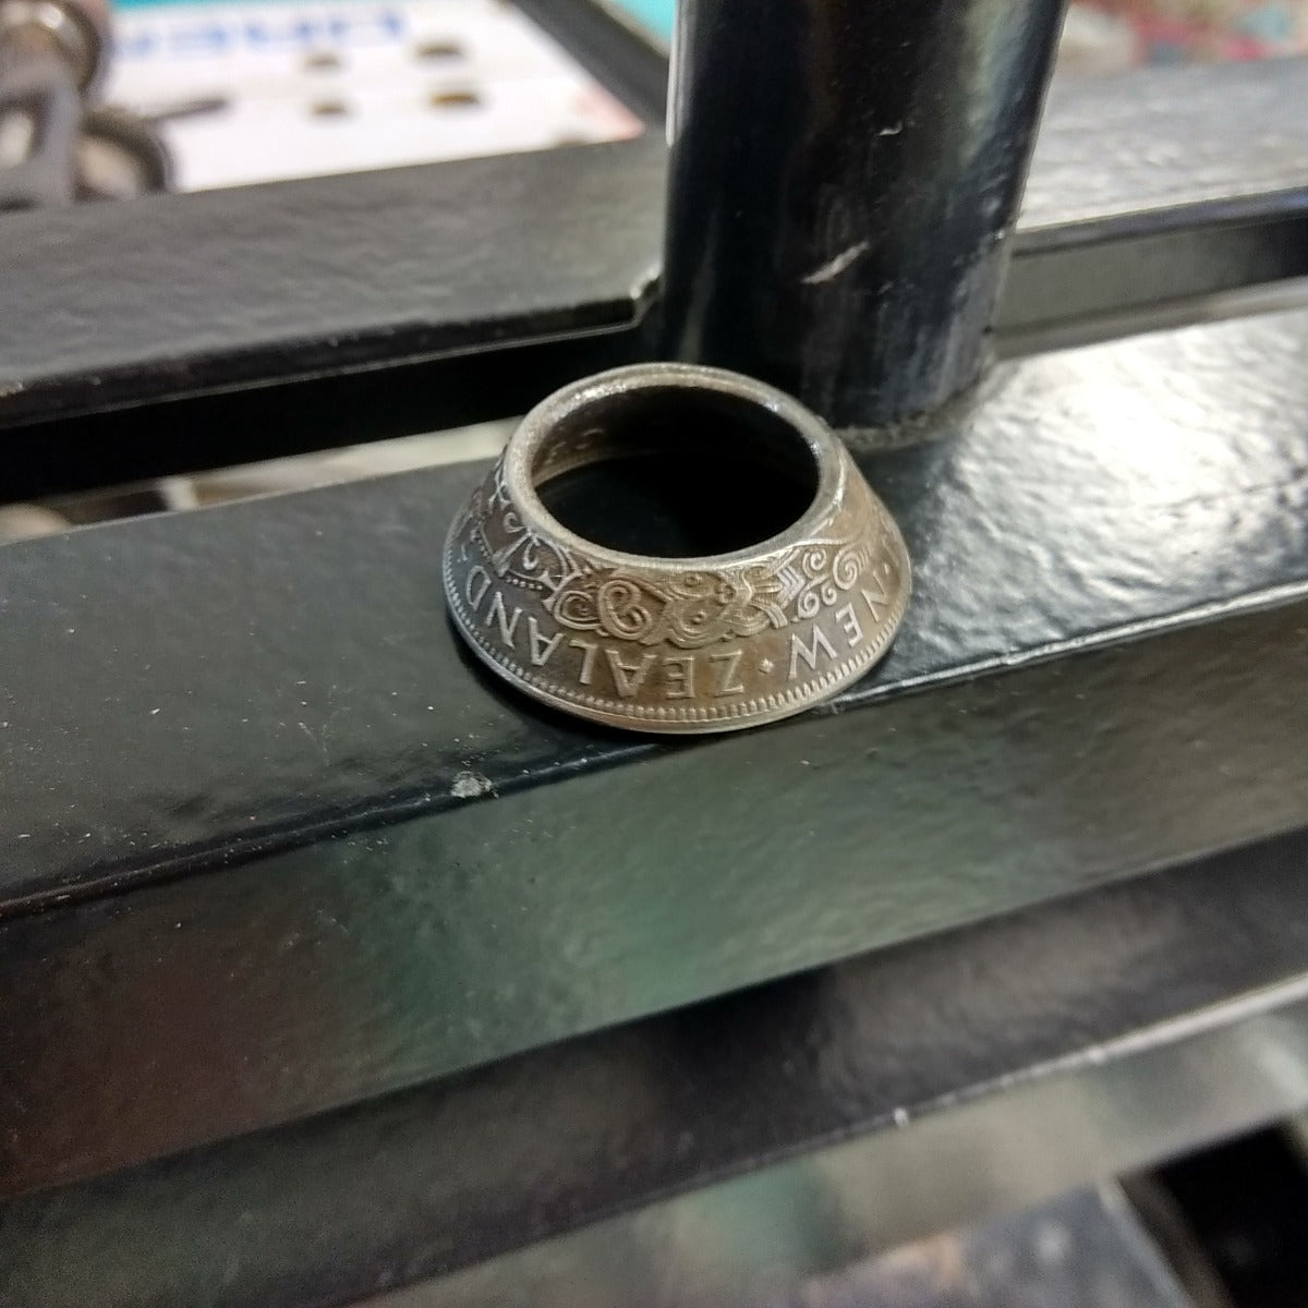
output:
M1305 349L1308 314L1295 313L1024 361L957 439L869 460L920 585L888 661L846 702L1308 578L1296 511ZM1184 378L1185 394L1152 383L1164 377ZM1256 446L1247 395L1260 399ZM1124 412L1148 442L1124 432ZM1201 412L1205 439L1194 434ZM1020 447L1014 430L1024 433ZM314 828L335 810L373 812L405 777L419 780L415 761L438 727L447 742L480 740L479 760L498 757L497 787L521 785L521 769L599 768L644 748L542 718L454 658L439 586L428 583L445 523L480 472L433 470L7 547L0 689L17 702L0 715L0 811L33 829L0 866L0 900L120 880L133 866L166 872L215 840L258 850L266 835ZM1031 497L1029 485L1042 494ZM377 532L375 522L400 530ZM1050 538L1057 551L1041 544ZM211 585L200 593L178 562L188 559L207 560ZM343 577L356 578L344 607ZM292 590L296 623L283 599ZM69 606L76 621L65 623ZM175 638L160 629L161 612L184 615ZM390 638L379 642L378 630ZM344 662L332 663L332 651ZM218 704L188 706L187 731L139 740L154 697L184 706L215 659L221 670L239 659L243 684ZM141 681L132 670L146 663L152 676ZM273 693L286 666L315 684L451 689L436 721L432 698L405 700L411 712L373 725L358 709L334 719L335 704L311 705L297 718L315 736L330 725L337 757L352 760L332 769L296 719L279 726L307 698L281 704ZM51 681L77 696L51 696ZM260 768L232 755L233 715L259 732ZM500 735L485 734L492 723ZM76 747L56 755L43 746L51 738ZM123 757L133 760L128 776L115 761ZM454 763L428 757L437 777ZM73 800L107 819L105 838L86 845L76 818L65 820ZM133 844L137 827L152 831L153 850Z

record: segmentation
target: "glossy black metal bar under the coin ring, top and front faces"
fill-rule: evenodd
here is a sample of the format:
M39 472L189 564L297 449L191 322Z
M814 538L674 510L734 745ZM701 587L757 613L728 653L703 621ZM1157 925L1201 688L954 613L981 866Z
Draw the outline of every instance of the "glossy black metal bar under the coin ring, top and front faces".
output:
M869 460L917 561L888 661L701 746L467 666L480 466L5 547L7 1188L1303 823L1305 343L1031 360Z

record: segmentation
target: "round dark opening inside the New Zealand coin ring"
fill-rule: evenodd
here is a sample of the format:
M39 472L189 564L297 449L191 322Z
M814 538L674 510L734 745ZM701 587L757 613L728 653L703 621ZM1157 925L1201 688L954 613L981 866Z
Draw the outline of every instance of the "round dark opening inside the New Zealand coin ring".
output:
M731 553L785 531L818 494L818 466L785 419L739 395L661 387L573 411L532 468L542 502L608 549Z

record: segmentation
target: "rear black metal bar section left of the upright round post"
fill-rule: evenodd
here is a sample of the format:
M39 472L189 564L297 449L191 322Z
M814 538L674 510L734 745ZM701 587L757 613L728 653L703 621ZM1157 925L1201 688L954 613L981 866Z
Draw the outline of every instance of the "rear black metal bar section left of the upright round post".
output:
M10 215L0 421L632 327L661 171L642 140Z

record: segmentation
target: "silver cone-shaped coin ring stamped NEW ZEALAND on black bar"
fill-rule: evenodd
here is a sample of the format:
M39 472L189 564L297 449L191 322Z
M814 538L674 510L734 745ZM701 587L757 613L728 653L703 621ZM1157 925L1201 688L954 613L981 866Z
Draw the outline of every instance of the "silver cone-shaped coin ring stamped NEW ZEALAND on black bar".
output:
M633 454L695 477L697 451L732 422L766 436L747 458L789 460L814 485L807 510L757 544L611 549L538 493ZM747 471L714 498L739 506ZM443 576L455 627L505 680L566 713L664 734L732 731L828 698L886 653L910 586L899 528L820 419L761 382L687 364L615 369L532 409L450 527Z

